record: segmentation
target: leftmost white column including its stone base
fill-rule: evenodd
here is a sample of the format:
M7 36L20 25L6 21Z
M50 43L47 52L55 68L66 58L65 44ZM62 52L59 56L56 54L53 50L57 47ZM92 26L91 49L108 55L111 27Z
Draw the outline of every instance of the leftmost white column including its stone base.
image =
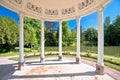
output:
M19 69L24 64L24 27L23 27L23 19L24 15L22 13L19 14Z

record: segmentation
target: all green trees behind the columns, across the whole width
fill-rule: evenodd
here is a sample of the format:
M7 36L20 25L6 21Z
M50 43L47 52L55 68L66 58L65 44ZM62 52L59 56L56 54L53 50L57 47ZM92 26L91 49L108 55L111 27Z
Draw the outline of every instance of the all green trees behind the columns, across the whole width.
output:
M0 52L9 51L18 46L18 24L9 17L0 17ZM82 29L81 29L82 30ZM120 16L111 23L110 17L106 17L104 22L105 45L120 46ZM62 45L71 46L76 43L76 28L70 29L68 21L62 23ZM91 27L81 31L81 42L97 45L98 31ZM83 37L84 36L84 37ZM24 17L24 45L31 47L40 44L41 22L36 19ZM59 40L59 27L55 22L45 22L45 45L57 46Z

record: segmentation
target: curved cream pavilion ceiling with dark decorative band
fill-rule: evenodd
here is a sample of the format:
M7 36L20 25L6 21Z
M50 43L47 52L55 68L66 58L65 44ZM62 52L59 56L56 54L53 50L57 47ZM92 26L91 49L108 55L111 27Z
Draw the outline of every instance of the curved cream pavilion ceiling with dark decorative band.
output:
M46 20L85 16L111 0L0 0L0 4L25 16Z

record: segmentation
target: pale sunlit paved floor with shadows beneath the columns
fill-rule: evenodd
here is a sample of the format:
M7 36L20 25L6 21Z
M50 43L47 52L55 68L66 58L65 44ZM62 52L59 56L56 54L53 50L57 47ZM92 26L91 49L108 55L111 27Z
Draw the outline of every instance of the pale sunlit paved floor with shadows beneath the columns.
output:
M64 58L57 61L47 59L45 63L39 60L27 61L22 71L17 70L17 62L8 60L9 57L0 57L0 80L114 80L108 75L97 75L94 62L82 60L82 64L75 64L74 59ZM84 64L85 63L85 64ZM89 65L86 65L89 64ZM106 73L120 79L120 72L109 67Z

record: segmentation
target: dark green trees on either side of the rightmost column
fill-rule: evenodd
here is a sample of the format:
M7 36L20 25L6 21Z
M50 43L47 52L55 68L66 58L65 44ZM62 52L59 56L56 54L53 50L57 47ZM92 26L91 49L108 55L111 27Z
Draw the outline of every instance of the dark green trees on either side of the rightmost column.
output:
M88 28L82 32L82 43L85 45L97 45L97 33L98 31L94 28ZM105 46L119 46L120 45L120 16L110 24L110 17L106 17L104 22L104 39ZM87 41L87 43L86 43Z

